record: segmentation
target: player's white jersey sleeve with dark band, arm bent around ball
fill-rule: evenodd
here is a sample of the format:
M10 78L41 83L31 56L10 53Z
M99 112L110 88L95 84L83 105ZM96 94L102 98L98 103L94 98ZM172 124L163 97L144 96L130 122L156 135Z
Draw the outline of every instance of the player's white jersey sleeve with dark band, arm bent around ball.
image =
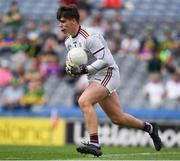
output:
M106 67L107 63L104 61L105 56L105 46L99 35L89 36L87 39L87 49L92 53L92 55L97 59L92 64L88 65L89 73L98 71Z

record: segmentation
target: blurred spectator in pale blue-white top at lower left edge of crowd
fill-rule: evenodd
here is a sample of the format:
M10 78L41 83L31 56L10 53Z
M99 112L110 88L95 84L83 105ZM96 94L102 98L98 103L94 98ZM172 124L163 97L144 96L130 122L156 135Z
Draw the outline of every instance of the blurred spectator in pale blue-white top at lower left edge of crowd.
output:
M13 79L9 86L5 87L0 98L1 106L5 110L21 109L20 99L24 93L23 86Z

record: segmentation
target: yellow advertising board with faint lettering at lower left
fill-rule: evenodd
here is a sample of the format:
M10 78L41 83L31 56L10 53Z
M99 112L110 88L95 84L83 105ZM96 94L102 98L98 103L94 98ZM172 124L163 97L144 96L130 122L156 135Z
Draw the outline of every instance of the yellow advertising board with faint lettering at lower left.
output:
M50 118L0 118L0 144L63 145L65 121Z

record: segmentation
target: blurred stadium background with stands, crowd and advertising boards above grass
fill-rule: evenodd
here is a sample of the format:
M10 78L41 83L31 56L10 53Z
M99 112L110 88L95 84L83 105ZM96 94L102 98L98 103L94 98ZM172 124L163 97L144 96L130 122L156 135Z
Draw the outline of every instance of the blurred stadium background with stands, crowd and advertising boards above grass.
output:
M179 0L1 0L0 144L87 138L77 105L86 77L64 72L65 35L56 21L62 3L78 3L82 24L105 36L120 67L124 110L158 122L164 146L179 147ZM151 145L143 132L112 125L98 105L97 113L102 144Z

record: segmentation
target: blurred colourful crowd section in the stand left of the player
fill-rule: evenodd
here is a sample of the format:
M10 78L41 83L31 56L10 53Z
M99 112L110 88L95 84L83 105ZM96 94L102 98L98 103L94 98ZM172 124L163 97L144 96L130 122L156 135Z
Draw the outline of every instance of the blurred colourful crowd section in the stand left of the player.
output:
M1 18L1 106L38 110L47 102L44 81L64 75L64 64L59 60L64 37L52 32L49 22L25 22L16 2Z

